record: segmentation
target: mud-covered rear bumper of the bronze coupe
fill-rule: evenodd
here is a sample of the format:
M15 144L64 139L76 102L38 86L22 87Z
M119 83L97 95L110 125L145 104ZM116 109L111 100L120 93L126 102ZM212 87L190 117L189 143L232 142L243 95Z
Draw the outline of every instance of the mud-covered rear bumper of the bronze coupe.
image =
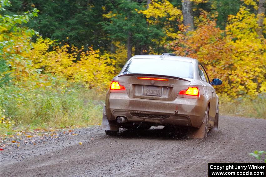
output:
M109 92L106 95L108 120L124 116L130 122L200 127L206 108L207 103L198 99L162 101L130 98L126 93Z

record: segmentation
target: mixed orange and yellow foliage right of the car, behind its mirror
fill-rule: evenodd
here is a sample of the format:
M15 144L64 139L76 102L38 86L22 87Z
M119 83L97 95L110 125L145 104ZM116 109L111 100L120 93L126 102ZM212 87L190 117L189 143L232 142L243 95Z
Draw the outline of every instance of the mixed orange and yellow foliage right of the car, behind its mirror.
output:
M180 34L174 49L178 55L201 61L210 79L222 79L224 84L216 88L219 93L255 96L266 90L266 39L257 38L257 20L254 13L241 7L228 17L226 30L220 30L204 12L198 28Z

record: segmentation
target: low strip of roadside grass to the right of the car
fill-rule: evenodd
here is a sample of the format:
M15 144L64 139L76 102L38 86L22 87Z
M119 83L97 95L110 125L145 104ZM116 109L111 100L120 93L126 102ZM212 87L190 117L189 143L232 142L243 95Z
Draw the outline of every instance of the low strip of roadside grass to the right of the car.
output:
M266 93L260 93L255 98L243 96L230 100L226 97L220 97L219 100L219 113L221 115L266 119Z

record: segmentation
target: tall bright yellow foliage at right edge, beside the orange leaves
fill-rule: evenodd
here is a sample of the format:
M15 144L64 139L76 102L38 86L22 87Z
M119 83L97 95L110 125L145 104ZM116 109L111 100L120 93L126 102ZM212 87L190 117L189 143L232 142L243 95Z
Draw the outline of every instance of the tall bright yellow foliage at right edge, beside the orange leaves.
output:
M238 86L248 95L265 91L263 83L266 75L266 39L258 38L256 28L258 17L249 9L241 7L239 12L228 17L226 34L227 46L234 50L231 57L234 61L232 86Z

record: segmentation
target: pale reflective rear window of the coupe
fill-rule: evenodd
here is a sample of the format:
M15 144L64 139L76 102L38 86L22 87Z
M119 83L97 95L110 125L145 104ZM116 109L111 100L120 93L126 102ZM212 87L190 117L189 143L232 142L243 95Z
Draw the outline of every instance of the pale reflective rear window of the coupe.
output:
M165 59L132 59L122 74L158 74L193 79L193 64Z

